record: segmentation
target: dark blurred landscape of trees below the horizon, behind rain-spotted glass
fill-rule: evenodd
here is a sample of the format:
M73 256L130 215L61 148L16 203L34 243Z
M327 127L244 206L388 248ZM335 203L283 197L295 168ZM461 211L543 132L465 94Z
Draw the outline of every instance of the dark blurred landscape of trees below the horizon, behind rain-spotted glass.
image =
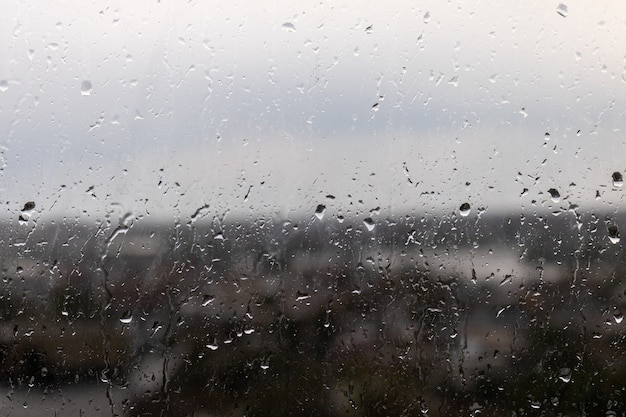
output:
M5 220L0 378L128 416L624 415L625 223Z

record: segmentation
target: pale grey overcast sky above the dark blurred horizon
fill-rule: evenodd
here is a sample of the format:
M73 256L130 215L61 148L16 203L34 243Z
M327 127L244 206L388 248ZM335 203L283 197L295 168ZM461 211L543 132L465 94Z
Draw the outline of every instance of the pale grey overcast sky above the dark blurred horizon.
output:
M83 3L0 16L9 215L619 210L621 1Z

